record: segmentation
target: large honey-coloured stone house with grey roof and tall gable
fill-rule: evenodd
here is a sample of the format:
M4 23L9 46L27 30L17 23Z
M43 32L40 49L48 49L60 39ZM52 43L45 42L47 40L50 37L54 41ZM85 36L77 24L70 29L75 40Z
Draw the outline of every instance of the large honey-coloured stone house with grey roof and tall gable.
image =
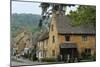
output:
M96 31L91 25L72 26L72 19L65 15L53 15L48 33L42 33L37 44L38 58L57 58L61 55L79 57L96 54Z

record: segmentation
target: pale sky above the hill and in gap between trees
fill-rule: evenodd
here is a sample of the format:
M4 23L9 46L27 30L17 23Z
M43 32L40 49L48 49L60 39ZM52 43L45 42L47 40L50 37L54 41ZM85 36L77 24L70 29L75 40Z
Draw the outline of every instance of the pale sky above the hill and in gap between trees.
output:
M12 1L12 13L31 13L41 15L42 10L39 6L40 3ZM76 8L77 6L67 7L66 14L69 14L70 10L75 11Z

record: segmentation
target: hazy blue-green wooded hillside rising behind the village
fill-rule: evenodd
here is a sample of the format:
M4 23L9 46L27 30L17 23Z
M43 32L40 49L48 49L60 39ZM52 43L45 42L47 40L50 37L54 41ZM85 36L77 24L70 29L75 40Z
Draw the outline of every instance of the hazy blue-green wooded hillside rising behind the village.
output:
M16 33L21 30L22 27L31 32L38 31L38 23L40 15L35 14L12 14L11 15L11 33L12 36L16 36Z

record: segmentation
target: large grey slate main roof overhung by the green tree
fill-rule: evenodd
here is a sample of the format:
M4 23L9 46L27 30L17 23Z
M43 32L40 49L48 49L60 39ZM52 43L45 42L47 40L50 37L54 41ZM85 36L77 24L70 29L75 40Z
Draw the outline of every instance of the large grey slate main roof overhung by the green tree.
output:
M95 34L96 30L92 26L72 26L72 20L68 16L57 16L56 25L60 34Z

